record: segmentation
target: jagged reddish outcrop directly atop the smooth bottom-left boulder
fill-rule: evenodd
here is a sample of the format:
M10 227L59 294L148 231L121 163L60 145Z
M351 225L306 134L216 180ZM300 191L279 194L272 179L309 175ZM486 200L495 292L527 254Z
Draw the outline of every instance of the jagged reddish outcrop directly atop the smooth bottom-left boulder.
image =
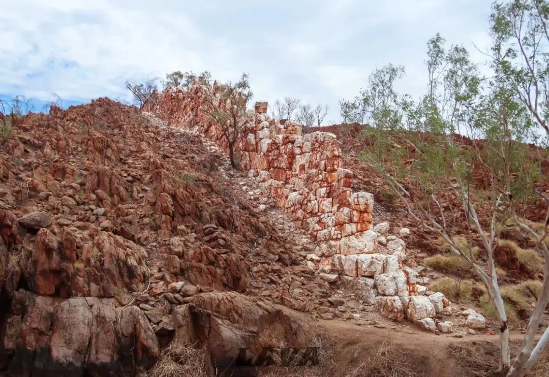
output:
M135 291L148 279L146 258L143 247L112 233L99 231L76 250L70 234L63 233L60 241L42 228L26 276L40 295L113 297L116 289Z

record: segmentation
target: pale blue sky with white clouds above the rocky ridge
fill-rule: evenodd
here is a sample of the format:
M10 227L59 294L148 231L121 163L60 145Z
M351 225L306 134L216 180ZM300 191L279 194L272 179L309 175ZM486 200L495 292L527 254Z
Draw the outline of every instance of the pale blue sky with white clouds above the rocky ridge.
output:
M24 95L40 111L130 100L125 81L209 70L250 75L254 100L328 104L366 86L385 64L404 65L397 88L427 85L426 42L440 32L486 60L490 0L18 0L0 1L0 99ZM1 109L0 109L1 110Z

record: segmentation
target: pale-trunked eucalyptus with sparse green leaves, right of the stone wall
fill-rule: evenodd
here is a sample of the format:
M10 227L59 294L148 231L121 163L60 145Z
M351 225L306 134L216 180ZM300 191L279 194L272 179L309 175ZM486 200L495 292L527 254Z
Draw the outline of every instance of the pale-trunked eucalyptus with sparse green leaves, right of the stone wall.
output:
M547 226L536 232L519 213L519 204L536 195L540 178L541 159L526 144L539 137L539 121L502 72L481 76L463 46L446 50L444 38L436 35L428 42L426 64L428 85L421 98L397 93L394 83L404 67L388 65L373 72L354 100L341 102L341 115L346 122L369 123L361 136L371 142L362 158L385 175L411 217L444 239L485 286L500 328L500 370L524 375L545 344L511 361L494 249L498 223L511 218L545 255L544 288L524 340L530 345L549 302ZM475 167L486 175L483 184ZM465 235L467 247L456 235ZM470 252L477 239L483 260ZM521 357L523 352L529 356Z

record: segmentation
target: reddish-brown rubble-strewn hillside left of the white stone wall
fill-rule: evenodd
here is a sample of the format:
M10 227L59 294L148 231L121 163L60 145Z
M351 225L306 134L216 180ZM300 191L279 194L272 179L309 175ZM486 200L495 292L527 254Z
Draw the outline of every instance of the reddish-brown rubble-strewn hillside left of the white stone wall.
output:
M197 136L108 99L30 114L12 129L0 153L0 370L9 375L132 375L183 325L180 305L208 326L219 313L220 326L257 327L288 311L256 306L257 295L300 311L329 296L298 260L315 245L263 216L273 201L260 203ZM288 295L290 280L307 287L300 299ZM220 358L225 346L209 343Z

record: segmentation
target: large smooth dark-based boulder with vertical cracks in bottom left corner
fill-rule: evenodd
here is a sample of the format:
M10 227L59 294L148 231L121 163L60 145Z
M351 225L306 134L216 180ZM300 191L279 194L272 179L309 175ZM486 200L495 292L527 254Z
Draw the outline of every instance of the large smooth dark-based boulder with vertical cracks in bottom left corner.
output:
M1 339L8 373L31 375L133 375L151 367L159 344L136 306L116 318L116 301L97 297L15 293Z

